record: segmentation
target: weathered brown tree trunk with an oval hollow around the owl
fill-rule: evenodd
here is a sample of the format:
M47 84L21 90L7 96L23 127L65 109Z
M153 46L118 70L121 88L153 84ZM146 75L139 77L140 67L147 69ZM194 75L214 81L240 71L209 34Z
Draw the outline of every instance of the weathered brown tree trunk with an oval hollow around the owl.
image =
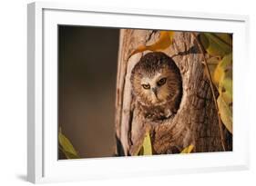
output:
M138 113L132 96L130 73L144 53L129 55L141 44L154 44L159 31L122 29L118 52L116 133L118 155L134 155L140 148L145 132L150 133L154 154L181 152L190 144L193 152L221 152L218 113L204 74L203 55L189 32L176 32L173 44L162 51L179 67L183 95L174 117L162 122L148 122ZM218 92L216 91L218 95ZM232 135L223 129L226 151L232 150Z

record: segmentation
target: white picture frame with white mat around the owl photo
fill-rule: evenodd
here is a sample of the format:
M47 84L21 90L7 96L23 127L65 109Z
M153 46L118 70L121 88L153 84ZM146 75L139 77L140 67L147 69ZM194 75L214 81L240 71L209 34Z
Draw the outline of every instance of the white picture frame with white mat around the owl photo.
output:
M168 23L168 24L167 24ZM57 24L233 33L233 151L57 160ZM27 180L81 181L201 171L249 169L246 96L249 18L193 12L32 3L27 12ZM240 63L243 62L243 63ZM240 110L239 108L243 108ZM171 166L167 166L167 164ZM136 168L136 169L135 169Z

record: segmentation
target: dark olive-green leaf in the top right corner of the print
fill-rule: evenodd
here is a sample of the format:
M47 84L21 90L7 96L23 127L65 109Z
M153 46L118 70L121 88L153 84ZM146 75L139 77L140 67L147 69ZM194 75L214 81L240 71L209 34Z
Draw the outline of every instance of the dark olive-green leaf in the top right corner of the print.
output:
M232 45L230 40L227 39L228 37L230 37L229 34L201 33L200 42L211 56L218 55L223 57L232 52Z

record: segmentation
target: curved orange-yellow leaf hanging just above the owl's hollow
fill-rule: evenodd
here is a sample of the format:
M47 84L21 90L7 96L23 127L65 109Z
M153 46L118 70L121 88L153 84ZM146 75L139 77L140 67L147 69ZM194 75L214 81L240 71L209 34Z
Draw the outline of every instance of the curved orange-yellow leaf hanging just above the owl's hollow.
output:
M140 45L136 50L132 52L131 55L142 53L144 51L161 51L165 50L169 47L170 44L172 44L173 35L175 32L173 31L160 31L159 35L159 41L157 41L155 44L150 45Z

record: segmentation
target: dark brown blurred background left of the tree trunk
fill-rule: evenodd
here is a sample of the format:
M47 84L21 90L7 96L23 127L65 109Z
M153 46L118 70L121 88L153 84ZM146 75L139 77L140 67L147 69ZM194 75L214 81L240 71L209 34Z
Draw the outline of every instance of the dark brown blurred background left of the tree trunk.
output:
M119 29L58 26L58 124L82 158L114 154L118 36Z

